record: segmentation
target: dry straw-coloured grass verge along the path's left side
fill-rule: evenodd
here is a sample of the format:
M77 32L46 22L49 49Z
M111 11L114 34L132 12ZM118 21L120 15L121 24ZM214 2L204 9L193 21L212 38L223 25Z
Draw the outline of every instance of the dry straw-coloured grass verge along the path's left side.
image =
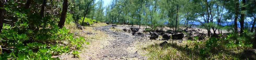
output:
M74 37L84 37L87 42L90 42L89 45L84 44L83 49L79 50L80 54L78 54L79 58L73 58L72 54L62 54L59 56L60 59L63 60L90 60L89 56L92 55L91 52L94 52L100 48L102 48L108 42L105 39L108 39L107 34L100 30L95 30L93 28L99 26L105 26L106 23L97 23L92 26L83 26L85 29L80 30L76 28L75 25L65 25L67 29L69 29L69 33L73 33ZM110 38L109 38L110 40Z

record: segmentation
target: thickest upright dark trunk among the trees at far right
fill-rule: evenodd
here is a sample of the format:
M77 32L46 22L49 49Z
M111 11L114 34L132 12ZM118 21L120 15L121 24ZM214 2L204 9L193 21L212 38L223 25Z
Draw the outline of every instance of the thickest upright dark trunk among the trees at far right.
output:
M241 11L245 11L245 0L242 0L242 7L241 7ZM245 13L241 13L241 16L240 16L240 36L242 36L243 34L243 29L244 29L244 21L245 21Z

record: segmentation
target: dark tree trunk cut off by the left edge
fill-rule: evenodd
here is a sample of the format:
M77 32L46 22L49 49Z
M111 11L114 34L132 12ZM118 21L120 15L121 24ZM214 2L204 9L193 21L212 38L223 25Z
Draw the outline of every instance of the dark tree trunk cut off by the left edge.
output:
M3 29L3 21L4 21L4 0L0 1L0 33L2 32Z

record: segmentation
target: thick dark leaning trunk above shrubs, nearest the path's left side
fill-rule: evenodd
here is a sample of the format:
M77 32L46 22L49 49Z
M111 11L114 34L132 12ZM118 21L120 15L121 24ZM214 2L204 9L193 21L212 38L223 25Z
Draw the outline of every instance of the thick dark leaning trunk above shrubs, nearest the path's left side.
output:
M65 24L67 10L68 10L68 0L64 0L63 6L62 6L61 18L58 24L60 28L62 28Z

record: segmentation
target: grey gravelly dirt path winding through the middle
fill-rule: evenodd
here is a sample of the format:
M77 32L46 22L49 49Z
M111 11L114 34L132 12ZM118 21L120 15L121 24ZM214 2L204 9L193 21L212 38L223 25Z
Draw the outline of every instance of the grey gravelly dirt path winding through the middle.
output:
M108 35L108 38L104 39L103 43L98 42L103 47L92 47L97 48L94 51L89 50L87 53L89 59L104 59L104 60L126 60L126 59L146 59L145 56L141 56L135 44L137 38L129 33L115 32L110 30L111 25L95 27L95 30L100 30Z

